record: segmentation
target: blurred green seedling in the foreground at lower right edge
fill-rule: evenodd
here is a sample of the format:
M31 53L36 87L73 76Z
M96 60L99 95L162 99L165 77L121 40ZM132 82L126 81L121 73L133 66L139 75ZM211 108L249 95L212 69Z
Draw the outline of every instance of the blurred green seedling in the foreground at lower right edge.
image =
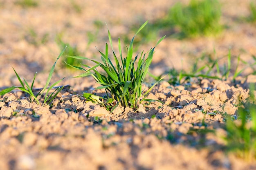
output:
M250 103L238 108L240 124L234 123L230 117L227 117L226 123L227 151L234 152L236 156L247 161L256 159L256 105L253 89L251 86Z

